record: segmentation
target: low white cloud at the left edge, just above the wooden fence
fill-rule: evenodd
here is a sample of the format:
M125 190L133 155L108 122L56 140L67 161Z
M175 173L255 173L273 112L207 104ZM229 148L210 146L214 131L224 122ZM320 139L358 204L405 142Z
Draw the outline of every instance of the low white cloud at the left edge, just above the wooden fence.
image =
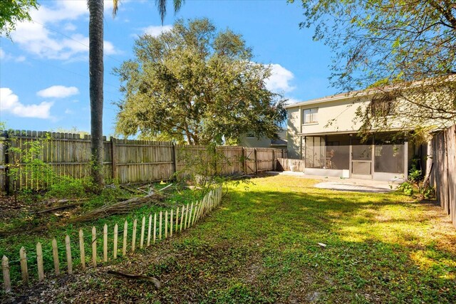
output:
M53 103L43 101L38 105L24 105L19 102L18 95L10 88L0 88L0 111L11 112L19 117L52 118L51 107Z

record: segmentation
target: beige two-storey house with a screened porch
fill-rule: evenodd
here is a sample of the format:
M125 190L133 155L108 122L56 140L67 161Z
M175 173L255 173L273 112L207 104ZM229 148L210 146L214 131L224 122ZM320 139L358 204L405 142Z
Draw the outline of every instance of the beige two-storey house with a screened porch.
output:
M309 175L381 181L407 177L413 157L423 159L426 152L400 122L391 122L387 132L372 132L367 140L358 137L356 112L366 109L373 94L357 91L287 105L288 157L304 159ZM383 101L371 108L388 117L392 103Z

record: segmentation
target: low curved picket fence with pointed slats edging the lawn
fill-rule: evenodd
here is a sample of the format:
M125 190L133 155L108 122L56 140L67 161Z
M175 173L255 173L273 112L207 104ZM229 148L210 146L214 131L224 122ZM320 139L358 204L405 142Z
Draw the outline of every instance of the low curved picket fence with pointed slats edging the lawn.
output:
M215 206L222 201L222 187L212 189L201 201L196 204L177 206L176 209L167 210L160 213L147 214L133 222L115 224L108 227L106 224L103 230L97 231L93 226L91 231L79 230L78 236L72 236L75 240L71 241L71 236L66 235L63 239L53 239L50 243L36 243L36 251L27 252L24 247L19 251L19 259L10 261L8 257L1 259L3 272L4 290L11 292L11 263L19 263L23 285L28 285L35 278L38 282L46 280L46 277L59 276L66 272L71 275L74 271L85 271L92 266L97 267L98 263L108 263L114 261L118 256L128 258L128 253L133 253L137 248L149 247L163 239L172 237L173 234L182 232L195 225L199 219L207 215ZM131 234L128 234L128 227L133 225ZM85 234L86 232L86 234ZM86 241L90 241L90 246L86 248ZM59 251L64 244L65 255L62 261ZM98 246L103 248L103 255L98 251ZM33 253L33 254L30 254ZM75 254L76 253L76 254ZM90 254L87 254L90 253ZM33 256L33 258L31 258ZM46 272L43 261L52 261L53 269ZM33 265L36 273L30 273L29 268Z

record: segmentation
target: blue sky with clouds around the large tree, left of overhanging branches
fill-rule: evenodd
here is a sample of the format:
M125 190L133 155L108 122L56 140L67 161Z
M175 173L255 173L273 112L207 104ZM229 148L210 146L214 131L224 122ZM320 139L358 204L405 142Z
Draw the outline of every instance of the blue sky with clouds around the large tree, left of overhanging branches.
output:
M0 121L13 129L89 131L86 0L38 3L33 22L19 23L12 41L0 38ZM331 52L312 41L311 29L299 29L299 4L187 0L176 15L169 7L163 27L155 1L123 0L115 19L111 11L112 0L105 1L105 135L114 132L112 103L122 98L113 68L133 57L138 34L158 34L180 18L207 17L219 29L241 33L255 61L272 65L269 88L291 103L336 93L328 81Z

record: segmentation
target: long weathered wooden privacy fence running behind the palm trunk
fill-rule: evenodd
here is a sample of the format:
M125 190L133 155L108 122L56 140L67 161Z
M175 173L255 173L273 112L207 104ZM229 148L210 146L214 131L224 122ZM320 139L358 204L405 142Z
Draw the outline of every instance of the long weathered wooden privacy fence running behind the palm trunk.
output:
M2 135L1 135L2 134ZM53 181L46 174L36 177L24 163L40 159L49 164L55 176L88 177L90 162L90 135L59 132L16 130L0 131L0 191L38 189ZM147 140L104 141L104 175L120 184L155 182L172 179L188 165L185 155L204 153L207 147L174 145L172 142ZM277 157L286 157L286 151L272 148L217 147L224 157L217 163L217 174L247 174L274 170ZM207 162L211 159L207 159ZM14 177L11 170L16 170Z

